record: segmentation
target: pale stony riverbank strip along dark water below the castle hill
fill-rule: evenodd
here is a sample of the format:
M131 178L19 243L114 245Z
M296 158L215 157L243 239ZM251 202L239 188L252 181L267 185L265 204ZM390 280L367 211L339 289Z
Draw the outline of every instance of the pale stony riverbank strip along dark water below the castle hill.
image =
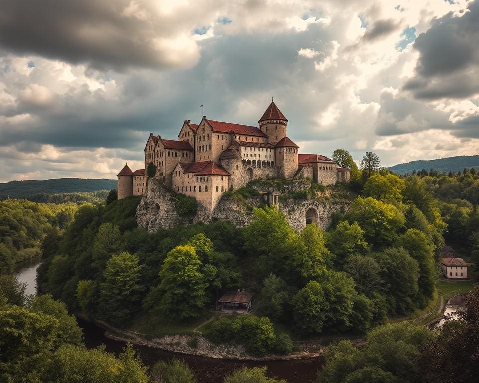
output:
M87 320L82 315L77 317ZM269 354L262 357L254 357L246 353L242 345L220 344L216 345L200 333L191 335L165 335L150 337L131 330L122 330L100 320L90 321L106 330L105 336L109 339L130 342L134 345L146 346L160 350L171 351L180 354L195 355L215 359L235 359L243 361L284 361L296 359L312 359L322 357L326 347L319 344L308 344L304 350L293 352L288 355ZM314 349L314 351L309 351Z

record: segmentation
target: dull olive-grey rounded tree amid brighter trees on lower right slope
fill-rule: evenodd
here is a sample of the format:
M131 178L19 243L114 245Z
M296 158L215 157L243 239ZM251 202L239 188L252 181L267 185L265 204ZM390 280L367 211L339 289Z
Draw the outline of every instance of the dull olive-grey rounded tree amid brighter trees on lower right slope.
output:
M381 269L373 257L353 254L347 258L344 271L354 279L359 294L381 290Z

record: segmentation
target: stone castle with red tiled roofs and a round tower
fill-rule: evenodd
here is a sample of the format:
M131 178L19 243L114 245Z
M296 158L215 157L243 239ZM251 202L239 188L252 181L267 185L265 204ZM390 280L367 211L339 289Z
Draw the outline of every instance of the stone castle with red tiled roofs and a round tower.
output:
M288 120L274 101L259 119L259 128L213 121L185 120L178 140L150 133L145 146L145 168L128 165L118 173L118 199L143 195L146 168L156 166L155 177L170 190L195 198L210 212L224 192L258 178L294 178L302 175L324 185L349 182L350 169L318 154L300 154L286 135Z

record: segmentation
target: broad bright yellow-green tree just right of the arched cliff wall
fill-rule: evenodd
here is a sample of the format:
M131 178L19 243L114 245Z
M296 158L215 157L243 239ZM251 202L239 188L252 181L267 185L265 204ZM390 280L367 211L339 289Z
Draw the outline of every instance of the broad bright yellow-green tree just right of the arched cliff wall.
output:
M393 205L374 198L358 197L347 214L349 222L357 222L368 243L386 247L394 243L404 226L404 215Z

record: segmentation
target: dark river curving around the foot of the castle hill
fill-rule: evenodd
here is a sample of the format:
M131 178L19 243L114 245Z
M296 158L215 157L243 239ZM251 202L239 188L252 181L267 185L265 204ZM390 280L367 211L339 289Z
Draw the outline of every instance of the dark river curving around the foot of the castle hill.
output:
M33 258L19 263L16 267L16 277L19 281L27 283L26 292L28 294L36 293L36 269L39 265L40 259ZM106 351L118 355L125 345L125 342L107 338L105 330L91 322L78 319L78 325L83 329L85 346L87 348L104 344ZM289 383L313 383L316 379L317 370L323 364L322 358L264 362L238 361L185 355L145 346L134 346L134 348L138 351L143 363L148 366L153 365L157 361L169 360L171 358L185 361L197 376L198 383L223 383L223 378L227 374L241 366L266 366L268 368L268 376L270 377L283 378Z

